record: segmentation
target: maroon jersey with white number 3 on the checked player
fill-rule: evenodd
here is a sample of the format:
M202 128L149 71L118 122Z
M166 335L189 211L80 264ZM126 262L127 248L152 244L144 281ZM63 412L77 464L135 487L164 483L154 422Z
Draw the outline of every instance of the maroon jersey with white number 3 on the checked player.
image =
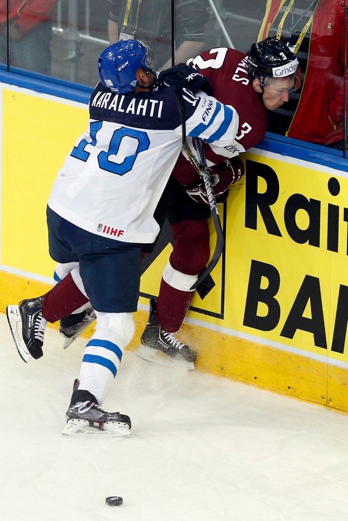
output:
M266 109L251 85L246 60L247 56L244 53L218 47L203 51L187 62L187 65L195 67L203 76L209 78L213 96L225 105L232 105L239 116L238 133L230 145L218 148L205 144L208 166L217 165L226 157L234 157L245 152L265 137ZM190 184L198 177L196 170L183 154L179 156L172 176L181 184Z

